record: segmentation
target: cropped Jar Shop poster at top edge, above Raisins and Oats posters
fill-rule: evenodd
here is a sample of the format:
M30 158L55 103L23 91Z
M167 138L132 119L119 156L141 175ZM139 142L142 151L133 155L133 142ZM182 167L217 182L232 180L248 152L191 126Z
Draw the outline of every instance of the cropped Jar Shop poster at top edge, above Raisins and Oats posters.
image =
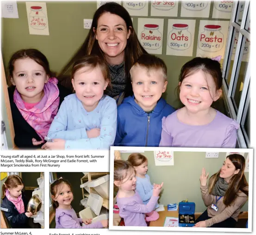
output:
M178 1L175 0L152 0L151 2L151 16L178 16Z

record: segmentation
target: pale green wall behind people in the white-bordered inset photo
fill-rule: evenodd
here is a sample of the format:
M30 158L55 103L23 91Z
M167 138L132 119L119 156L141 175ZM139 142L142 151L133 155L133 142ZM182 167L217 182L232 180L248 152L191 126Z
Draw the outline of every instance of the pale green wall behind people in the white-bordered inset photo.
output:
M174 166L156 166L153 151L142 153L148 158L148 175L151 183L163 182L159 204L167 205L188 199L195 203L195 212L203 212L206 206L201 197L200 174L202 168L212 174L219 171L225 161L226 153L219 153L219 158L206 158L206 152L174 152ZM121 158L127 160L130 154L121 153ZM247 153L245 154L245 159ZM245 173L249 182L249 173ZM248 202L241 211L248 211Z

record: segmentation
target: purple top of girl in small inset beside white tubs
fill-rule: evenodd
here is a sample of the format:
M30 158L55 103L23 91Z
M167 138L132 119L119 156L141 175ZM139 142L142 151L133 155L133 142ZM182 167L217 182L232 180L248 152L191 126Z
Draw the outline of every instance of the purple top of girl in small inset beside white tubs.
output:
M56 229L102 229L103 225L100 221L81 226L82 219L78 218L75 210L56 209L55 213Z

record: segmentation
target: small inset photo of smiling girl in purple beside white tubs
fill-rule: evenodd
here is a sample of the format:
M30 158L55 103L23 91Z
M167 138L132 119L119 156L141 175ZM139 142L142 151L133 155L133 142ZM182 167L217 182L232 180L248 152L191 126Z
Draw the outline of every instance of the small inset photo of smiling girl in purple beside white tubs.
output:
M109 172L51 172L50 229L108 228Z

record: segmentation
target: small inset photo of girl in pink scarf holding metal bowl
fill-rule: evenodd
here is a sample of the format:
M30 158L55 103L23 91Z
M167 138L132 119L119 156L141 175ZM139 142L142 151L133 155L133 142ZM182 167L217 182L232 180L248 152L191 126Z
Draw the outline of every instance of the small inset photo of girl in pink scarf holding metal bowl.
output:
M1 172L1 229L44 229L44 172Z

